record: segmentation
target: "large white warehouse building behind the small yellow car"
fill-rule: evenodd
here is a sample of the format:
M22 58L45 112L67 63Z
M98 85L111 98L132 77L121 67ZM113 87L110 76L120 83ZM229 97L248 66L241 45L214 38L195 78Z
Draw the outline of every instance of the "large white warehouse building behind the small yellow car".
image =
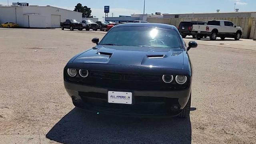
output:
M66 19L82 20L81 12L53 6L0 6L0 23L15 22L20 27L59 28Z

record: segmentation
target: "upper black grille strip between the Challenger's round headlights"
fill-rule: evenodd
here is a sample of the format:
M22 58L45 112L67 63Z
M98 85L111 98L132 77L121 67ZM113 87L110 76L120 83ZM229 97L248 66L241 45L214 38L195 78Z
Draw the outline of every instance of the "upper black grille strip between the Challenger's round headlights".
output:
M66 70L65 80L77 84L84 84L88 86L96 86L102 88L123 89L123 90L183 90L188 88L186 84L176 84L176 82L165 83L162 81L162 75L152 74L127 74L119 72L104 72L89 70L89 76L82 78L79 74L72 78L67 76Z

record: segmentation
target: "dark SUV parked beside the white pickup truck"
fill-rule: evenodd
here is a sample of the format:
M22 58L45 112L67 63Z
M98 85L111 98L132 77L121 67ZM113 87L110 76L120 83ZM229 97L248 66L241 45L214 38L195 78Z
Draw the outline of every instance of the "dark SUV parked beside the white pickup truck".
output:
M192 27L194 24L204 25L204 24L206 24L206 22L201 22L201 21L182 21L182 22L180 22L178 30L179 30L182 38L186 38L186 36L191 36L191 35L193 36L193 38L196 38L196 36L191 33Z

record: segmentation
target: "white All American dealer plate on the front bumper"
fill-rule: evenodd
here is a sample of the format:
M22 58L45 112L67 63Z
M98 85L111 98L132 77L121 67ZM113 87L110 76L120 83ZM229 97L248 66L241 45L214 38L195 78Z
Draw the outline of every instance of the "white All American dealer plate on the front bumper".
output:
M132 104L132 93L108 91L108 102L116 104Z

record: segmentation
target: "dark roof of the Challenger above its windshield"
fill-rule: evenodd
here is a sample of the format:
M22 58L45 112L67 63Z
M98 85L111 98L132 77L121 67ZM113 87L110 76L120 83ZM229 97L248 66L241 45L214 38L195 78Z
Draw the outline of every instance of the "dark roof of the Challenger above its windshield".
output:
M169 24L159 24L159 23L126 23L126 24L118 24L116 25L116 28L118 27L150 27L150 28L168 28L168 29L175 29L175 26L169 25Z

